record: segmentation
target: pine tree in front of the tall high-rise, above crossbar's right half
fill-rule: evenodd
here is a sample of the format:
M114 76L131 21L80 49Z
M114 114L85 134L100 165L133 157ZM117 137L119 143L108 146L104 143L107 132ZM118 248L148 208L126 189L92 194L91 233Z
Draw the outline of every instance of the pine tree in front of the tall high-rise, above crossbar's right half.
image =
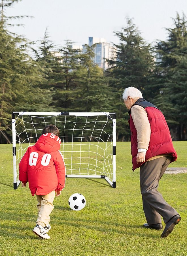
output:
M80 55L81 68L78 72L78 88L81 104L79 104L79 111L113 112L108 78L104 76L103 69L94 63L94 47L95 45L85 45L86 51Z

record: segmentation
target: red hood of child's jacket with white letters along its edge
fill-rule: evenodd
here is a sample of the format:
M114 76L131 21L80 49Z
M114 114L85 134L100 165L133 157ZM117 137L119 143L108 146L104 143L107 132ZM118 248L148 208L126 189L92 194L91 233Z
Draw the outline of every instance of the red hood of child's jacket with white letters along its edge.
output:
M42 134L35 146L39 151L48 153L60 149L61 139L53 133Z

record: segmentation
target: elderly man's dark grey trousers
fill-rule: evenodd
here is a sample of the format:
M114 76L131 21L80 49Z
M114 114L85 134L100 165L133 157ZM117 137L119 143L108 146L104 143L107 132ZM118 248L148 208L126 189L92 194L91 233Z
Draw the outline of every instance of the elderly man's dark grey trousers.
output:
M148 225L161 223L161 216L166 223L178 212L166 203L158 192L158 183L163 176L171 157L160 157L147 161L140 167L140 189L143 210Z

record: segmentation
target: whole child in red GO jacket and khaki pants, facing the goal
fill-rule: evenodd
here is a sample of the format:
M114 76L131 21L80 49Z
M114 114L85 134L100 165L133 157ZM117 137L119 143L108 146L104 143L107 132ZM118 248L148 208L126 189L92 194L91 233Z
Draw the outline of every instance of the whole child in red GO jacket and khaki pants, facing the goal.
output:
M22 187L29 182L31 194L37 197L38 219L33 232L44 239L50 239L50 213L53 200L61 194L65 186L65 164L59 151L61 139L55 125L47 125L34 146L28 147L19 167L19 179Z

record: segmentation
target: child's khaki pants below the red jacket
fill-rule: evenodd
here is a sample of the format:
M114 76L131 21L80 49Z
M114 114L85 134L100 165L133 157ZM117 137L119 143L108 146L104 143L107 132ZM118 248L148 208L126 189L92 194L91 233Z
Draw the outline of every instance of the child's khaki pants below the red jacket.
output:
M36 224L45 227L50 222L50 213L54 209L53 201L55 197L55 191L53 190L47 195L36 195L37 197L37 209L38 219Z

